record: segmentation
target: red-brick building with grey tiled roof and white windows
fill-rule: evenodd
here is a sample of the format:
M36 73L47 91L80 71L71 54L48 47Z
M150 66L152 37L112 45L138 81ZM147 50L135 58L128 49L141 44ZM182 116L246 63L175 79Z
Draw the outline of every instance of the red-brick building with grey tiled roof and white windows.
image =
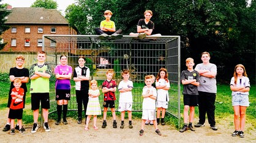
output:
M42 49L42 35L77 35L67 19L56 9L15 7L7 16L9 30L2 33L6 43L2 52L37 52ZM56 46L56 43L51 43Z

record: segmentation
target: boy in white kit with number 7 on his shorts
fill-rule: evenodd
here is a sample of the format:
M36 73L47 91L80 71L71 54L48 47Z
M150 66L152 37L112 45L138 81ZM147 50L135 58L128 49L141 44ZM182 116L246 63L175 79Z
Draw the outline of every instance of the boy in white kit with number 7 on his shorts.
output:
M119 97L119 107L118 111L121 112L121 126L120 128L124 128L124 114L128 113L129 118L129 128L133 128L132 126L132 88L134 88L134 84L129 80L130 73L127 69L122 71L122 78L124 78L118 85L118 91L120 92Z

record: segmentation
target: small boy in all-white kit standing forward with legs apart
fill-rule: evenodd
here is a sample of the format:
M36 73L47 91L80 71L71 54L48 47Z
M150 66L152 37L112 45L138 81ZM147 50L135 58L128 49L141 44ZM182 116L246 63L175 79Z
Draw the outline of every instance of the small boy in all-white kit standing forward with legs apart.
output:
M146 120L153 120L153 124L156 130L156 133L161 136L161 132L157 127L156 123L156 88L152 87L152 77L151 75L145 76L146 87L143 88L142 97L142 117L141 117L141 130L140 136L144 133L144 126Z

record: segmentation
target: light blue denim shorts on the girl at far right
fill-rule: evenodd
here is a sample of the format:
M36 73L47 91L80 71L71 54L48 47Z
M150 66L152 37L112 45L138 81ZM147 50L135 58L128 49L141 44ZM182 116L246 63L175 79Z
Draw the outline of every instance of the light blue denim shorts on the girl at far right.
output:
M248 95L237 93L232 96L232 106L249 106Z

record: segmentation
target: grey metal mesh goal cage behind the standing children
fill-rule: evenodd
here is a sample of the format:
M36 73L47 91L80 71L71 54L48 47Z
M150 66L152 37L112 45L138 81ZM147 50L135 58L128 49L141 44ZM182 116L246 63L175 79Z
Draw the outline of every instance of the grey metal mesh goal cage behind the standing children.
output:
M59 64L62 54L68 56L68 65L74 69L78 66L78 56L86 57L86 64L91 71L91 79L101 83L106 79L108 69L114 69L115 80L122 80L121 70L129 69L130 80L134 83L133 111L142 111L141 97L145 86L145 75L155 75L160 68L166 68L171 88L170 103L167 113L180 119L180 38L178 36L147 37L138 40L136 37L124 36L121 39L100 40L97 35L43 35L43 51L47 52L47 63L50 63L53 75L54 68ZM50 83L50 113L56 111L55 76ZM77 110L75 99L75 83L71 82L71 100L69 110ZM119 92L116 91L116 107L118 107ZM101 92L100 104L103 103Z

